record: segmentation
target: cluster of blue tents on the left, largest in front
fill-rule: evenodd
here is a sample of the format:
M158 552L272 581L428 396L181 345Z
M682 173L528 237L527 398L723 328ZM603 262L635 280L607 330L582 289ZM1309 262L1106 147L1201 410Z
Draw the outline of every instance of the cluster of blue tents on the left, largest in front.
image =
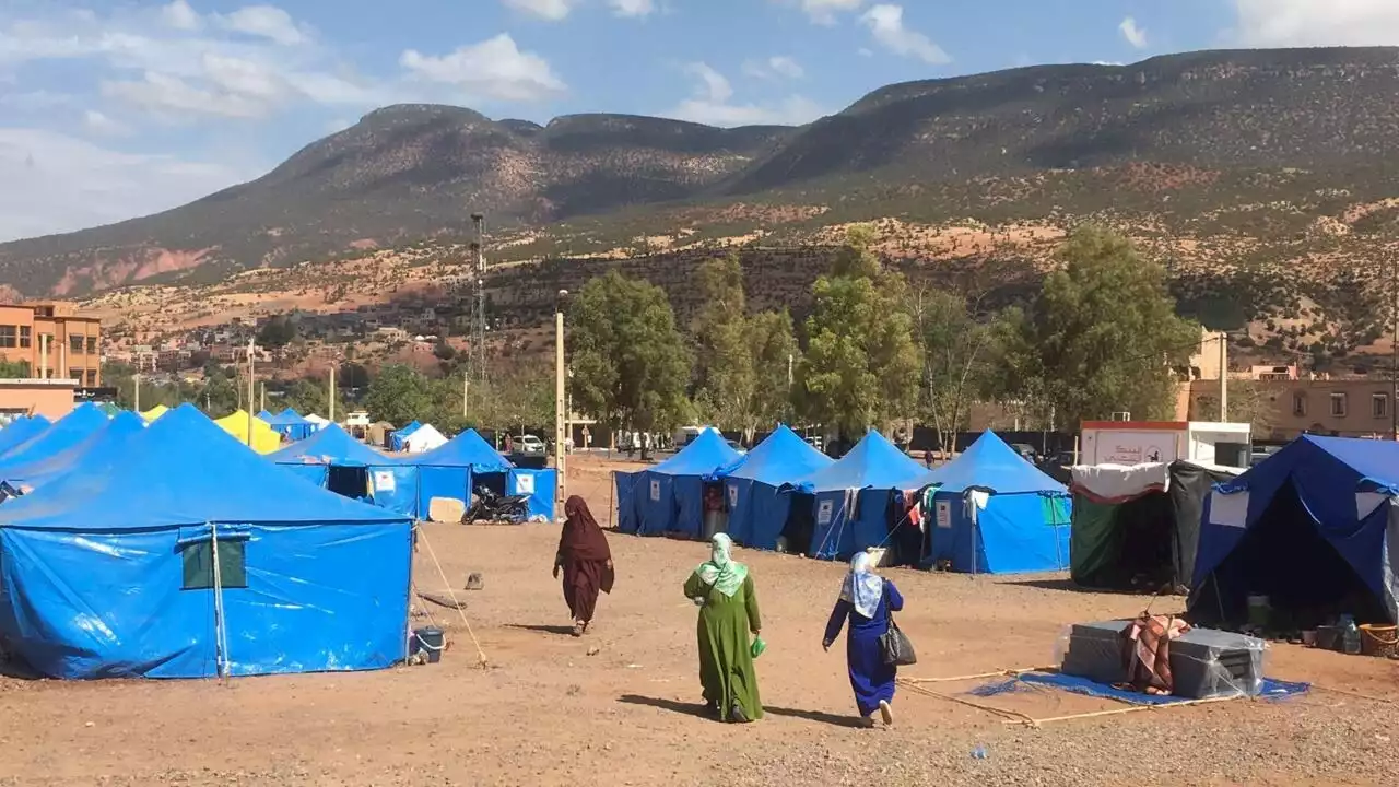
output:
M431 499L494 476L553 517L553 472L473 431L389 458L327 426L264 457L190 405L18 419L0 430L0 650L53 678L389 667Z

